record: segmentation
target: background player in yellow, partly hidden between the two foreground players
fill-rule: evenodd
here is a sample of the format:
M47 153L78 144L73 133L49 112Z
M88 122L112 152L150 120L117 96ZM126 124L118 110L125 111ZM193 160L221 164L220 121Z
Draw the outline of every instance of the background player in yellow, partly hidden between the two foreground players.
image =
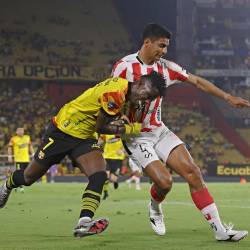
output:
M118 175L125 159L125 151L119 135L101 135L100 140L104 144L103 156L107 162L108 180L103 189L103 199L105 200L108 198L109 181L114 183L115 189L118 188Z

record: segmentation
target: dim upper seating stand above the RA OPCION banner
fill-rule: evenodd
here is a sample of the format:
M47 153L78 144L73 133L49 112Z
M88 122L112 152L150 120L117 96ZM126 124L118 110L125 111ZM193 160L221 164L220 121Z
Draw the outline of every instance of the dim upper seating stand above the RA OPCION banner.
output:
M110 71L116 58L131 51L111 0L11 0L0 13L0 64L78 64Z

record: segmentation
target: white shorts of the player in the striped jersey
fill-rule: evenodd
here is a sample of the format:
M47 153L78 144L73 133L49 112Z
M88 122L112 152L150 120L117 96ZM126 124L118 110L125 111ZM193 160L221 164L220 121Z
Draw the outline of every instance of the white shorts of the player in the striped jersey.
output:
M145 168L156 160L166 163L171 151L180 144L184 142L167 127L163 127L159 135L150 133L150 136L137 137L131 143L125 143L124 148L136 165Z

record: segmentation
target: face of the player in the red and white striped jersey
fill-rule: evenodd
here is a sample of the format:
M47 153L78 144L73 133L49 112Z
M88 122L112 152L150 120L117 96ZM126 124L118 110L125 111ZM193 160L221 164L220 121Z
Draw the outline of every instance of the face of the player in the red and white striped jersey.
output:
M158 61L167 53L168 45L168 38L159 38L157 40L149 39L147 44L148 56L151 57L153 61Z

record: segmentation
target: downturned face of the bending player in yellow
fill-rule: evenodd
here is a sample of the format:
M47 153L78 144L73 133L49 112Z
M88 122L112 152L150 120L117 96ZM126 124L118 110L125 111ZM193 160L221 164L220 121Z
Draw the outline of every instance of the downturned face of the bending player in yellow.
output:
M132 84L130 101L137 103L138 101L152 101L159 95L156 88L147 78L141 78Z

